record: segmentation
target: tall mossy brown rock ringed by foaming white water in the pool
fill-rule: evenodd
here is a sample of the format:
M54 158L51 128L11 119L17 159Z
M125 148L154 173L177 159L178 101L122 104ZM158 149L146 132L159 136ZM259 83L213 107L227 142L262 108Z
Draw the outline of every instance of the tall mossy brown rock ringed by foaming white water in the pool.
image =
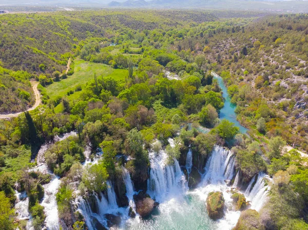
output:
M211 192L206 199L206 209L208 216L217 220L224 215L224 198L222 192Z

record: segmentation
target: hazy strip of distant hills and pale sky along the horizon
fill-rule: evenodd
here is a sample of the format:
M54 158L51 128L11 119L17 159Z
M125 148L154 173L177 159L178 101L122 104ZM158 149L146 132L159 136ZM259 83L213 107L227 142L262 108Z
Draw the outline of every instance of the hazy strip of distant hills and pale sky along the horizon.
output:
M55 11L84 8L153 8L258 10L270 12L308 12L308 0L2 0L0 8L10 11ZM44 8L45 7L45 8ZM47 8L49 7L49 8Z

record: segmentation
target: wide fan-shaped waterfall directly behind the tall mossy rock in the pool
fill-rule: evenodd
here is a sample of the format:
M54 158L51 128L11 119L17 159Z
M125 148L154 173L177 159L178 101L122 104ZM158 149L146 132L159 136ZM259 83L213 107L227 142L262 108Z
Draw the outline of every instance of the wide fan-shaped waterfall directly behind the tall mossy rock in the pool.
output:
M203 183L217 184L233 178L234 164L232 152L216 145L206 162Z

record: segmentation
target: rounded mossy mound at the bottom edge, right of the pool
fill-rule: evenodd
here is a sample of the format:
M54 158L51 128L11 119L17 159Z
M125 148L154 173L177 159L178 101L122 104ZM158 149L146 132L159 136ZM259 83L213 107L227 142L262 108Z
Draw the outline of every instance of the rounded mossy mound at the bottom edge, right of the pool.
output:
M264 230L260 221L260 214L256 210L245 210L232 230Z

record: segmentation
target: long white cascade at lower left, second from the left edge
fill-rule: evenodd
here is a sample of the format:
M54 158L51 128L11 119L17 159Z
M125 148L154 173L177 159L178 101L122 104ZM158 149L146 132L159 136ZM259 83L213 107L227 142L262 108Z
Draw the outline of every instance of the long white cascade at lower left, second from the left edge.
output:
M57 211L57 204L55 194L59 189L61 180L59 177L54 176L50 183L44 185L45 194L42 201L44 212L46 215L45 225L48 230L59 230L59 216Z

